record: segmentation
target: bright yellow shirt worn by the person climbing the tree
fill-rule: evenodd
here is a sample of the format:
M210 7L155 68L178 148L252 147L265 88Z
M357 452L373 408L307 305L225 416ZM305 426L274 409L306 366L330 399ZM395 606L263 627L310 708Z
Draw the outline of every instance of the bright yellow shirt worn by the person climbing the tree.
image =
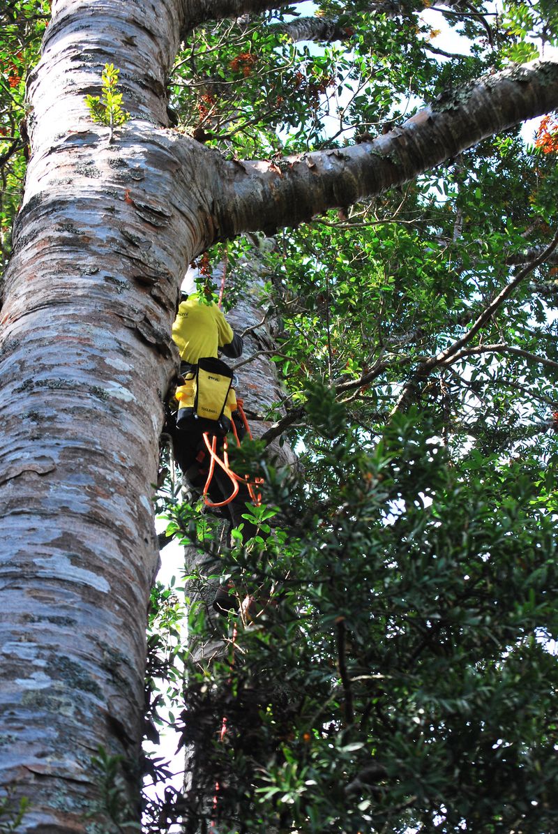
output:
M203 356L216 357L218 349L233 339L233 330L217 304L201 304L194 293L178 307L173 342L183 362L196 364Z

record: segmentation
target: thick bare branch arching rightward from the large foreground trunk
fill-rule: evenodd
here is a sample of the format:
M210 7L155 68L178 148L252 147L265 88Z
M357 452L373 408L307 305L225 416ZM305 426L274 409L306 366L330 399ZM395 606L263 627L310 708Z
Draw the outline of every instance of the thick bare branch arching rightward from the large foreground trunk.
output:
M351 148L279 161L219 159L215 239L273 234L408 182L482 139L558 107L558 61L534 61L445 93L403 125ZM207 153L216 152L207 149Z

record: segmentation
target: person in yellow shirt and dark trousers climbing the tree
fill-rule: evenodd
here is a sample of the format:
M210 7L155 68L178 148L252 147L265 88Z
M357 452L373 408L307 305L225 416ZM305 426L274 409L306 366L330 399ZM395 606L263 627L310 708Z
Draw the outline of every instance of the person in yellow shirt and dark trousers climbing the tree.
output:
M234 333L217 304L204 303L195 291L193 282L183 284L183 287L189 289L189 292L183 292L178 306L178 313L173 324L173 342L180 353L180 374L185 384L189 382L193 384L196 379L198 389L201 389L199 385L201 368L209 367L209 374L212 373L212 368L217 369L213 376L209 375L209 379L218 376L219 371L225 371L232 378L232 371L227 369L224 363L219 362L219 351L229 359L238 359L242 355L244 344L242 337ZM205 446L204 432L209 431L217 435L216 445L221 451L224 435L229 429L230 422L224 416L217 421L200 419L198 414L194 414L194 408L187 410L191 414L186 419L181 419L183 414L178 416L180 412L178 414L170 412L166 431L173 441L174 459L189 485L201 494L209 469L209 452ZM233 413L230 419L235 420L236 416ZM244 426L241 431L244 433ZM231 495L231 481L220 466L214 467L214 475L209 482L208 490L215 504L224 502ZM244 525L244 540L254 536L257 530L248 520L242 518L246 512L246 504L250 501L247 486L239 483L238 493L224 505L229 515L231 528ZM219 587L214 599L214 609L219 613L226 613L238 606L236 597L229 593L231 589L232 586Z

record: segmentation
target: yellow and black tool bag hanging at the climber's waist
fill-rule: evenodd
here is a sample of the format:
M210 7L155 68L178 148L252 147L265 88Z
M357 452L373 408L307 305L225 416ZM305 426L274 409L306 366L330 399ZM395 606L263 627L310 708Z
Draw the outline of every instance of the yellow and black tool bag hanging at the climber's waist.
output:
M221 359L199 359L195 369L184 375L183 385L174 394L178 399L178 429L209 431L226 435L236 409L233 372Z

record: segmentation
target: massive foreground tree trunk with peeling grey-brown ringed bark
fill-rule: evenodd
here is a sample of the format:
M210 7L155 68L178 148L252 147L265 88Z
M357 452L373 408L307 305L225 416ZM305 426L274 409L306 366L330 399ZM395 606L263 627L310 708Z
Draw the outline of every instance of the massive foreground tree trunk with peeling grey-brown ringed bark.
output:
M0 786L28 797L18 831L84 831L88 812L112 830L98 746L124 757L137 815L151 485L178 284L204 237L153 127L179 5L56 3L30 85L0 359ZM112 143L83 101L105 62L133 114Z

